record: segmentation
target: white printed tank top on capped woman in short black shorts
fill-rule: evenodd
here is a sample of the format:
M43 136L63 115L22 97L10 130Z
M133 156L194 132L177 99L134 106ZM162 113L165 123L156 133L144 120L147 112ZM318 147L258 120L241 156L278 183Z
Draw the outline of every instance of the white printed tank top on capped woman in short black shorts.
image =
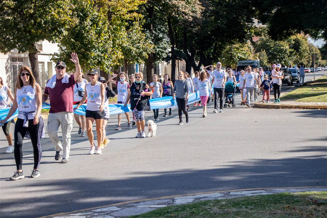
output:
M99 111L101 105L101 82L97 82L94 86L91 83L87 83L85 89L87 91L87 105L86 110Z

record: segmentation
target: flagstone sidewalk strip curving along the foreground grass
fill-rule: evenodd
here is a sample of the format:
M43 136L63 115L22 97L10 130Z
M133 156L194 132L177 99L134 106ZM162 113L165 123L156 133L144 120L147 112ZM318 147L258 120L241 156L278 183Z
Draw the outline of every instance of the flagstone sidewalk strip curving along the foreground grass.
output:
M122 202L118 204L107 205L103 207L88 208L68 213L59 213L41 218L118 218L143 214L155 209L175 206L181 204L189 204L198 201L219 200L228 198L237 198L253 195L267 195L282 192L306 192L306 191L327 191L327 187L288 187L288 188L265 188L250 190L230 190L230 191L214 191L205 193L194 193L184 195L166 196L160 198L144 199L137 201Z

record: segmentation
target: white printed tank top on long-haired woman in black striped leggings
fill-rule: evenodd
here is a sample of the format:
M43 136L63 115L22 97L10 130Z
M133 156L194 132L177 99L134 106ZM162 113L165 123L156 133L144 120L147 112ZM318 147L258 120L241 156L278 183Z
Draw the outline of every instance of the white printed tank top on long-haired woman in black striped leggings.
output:
M36 86L35 86L36 87ZM20 89L17 89L16 92L16 100L18 111L22 112L32 112L36 111L36 91L35 87L33 88L31 85L23 86ZM27 114L28 119L34 119L33 113ZM25 119L24 114L18 114L18 118Z

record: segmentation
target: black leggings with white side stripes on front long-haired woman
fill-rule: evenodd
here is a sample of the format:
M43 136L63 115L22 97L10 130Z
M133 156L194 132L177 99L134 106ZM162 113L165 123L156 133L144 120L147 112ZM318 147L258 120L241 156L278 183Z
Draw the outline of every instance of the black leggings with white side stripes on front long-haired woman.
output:
M24 119L17 119L15 125L15 148L14 148L14 156L16 161L17 170L22 170L23 164L23 139L28 130L29 135L31 137L32 145L33 145L33 154L34 154L34 168L39 169L41 157L42 157L42 149L41 149L41 133L44 126L44 122L42 117L40 116L39 123L34 125L33 119L28 120L28 127L24 127Z

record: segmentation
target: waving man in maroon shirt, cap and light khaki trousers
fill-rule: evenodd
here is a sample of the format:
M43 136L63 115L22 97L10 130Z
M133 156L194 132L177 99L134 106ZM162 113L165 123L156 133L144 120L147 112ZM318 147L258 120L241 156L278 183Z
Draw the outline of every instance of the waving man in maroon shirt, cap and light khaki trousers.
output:
M52 143L56 147L55 160L59 160L61 152L61 163L67 163L70 151L70 132L73 128L73 94L74 85L82 76L81 67L76 53L71 54L71 61L76 66L72 75L66 73L66 64L58 61L56 64L56 75L51 77L44 89L42 102L50 97L50 111L47 124L47 132ZM59 126L62 130L62 144L58 137Z

